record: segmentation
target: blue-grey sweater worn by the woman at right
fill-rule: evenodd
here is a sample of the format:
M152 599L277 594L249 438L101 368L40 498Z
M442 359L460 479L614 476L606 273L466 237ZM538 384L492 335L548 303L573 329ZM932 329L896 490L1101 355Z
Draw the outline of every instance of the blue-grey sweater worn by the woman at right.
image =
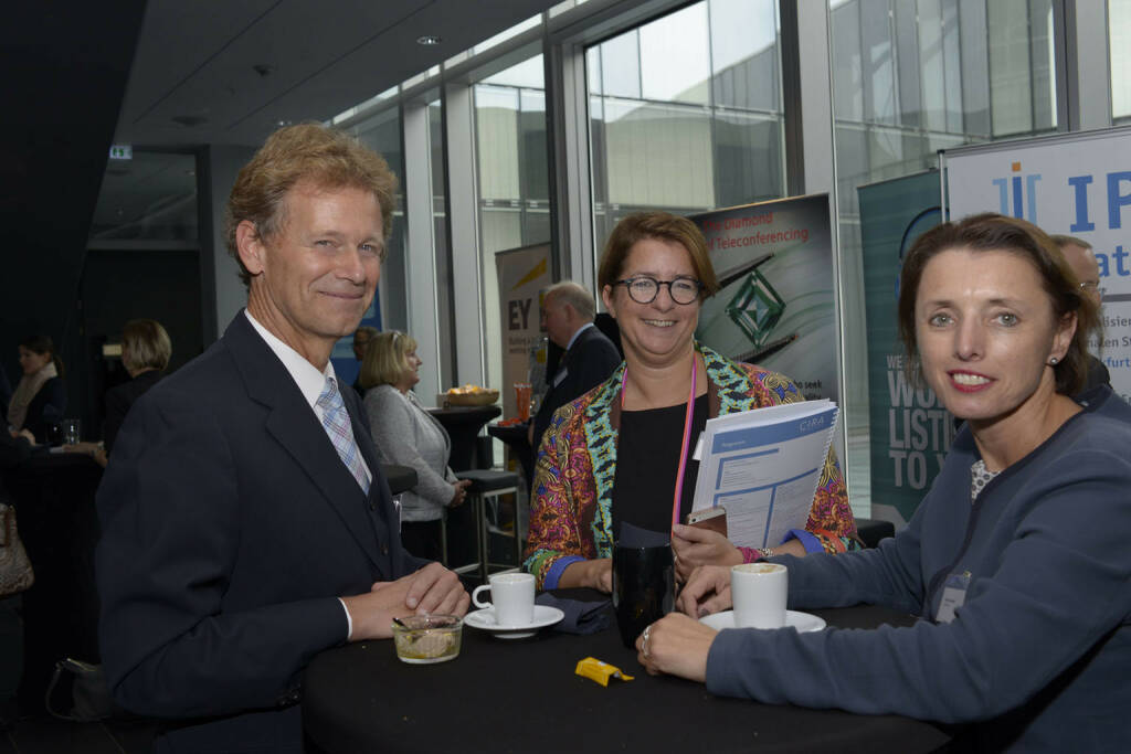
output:
M1107 388L970 504L964 428L906 529L878 549L775 558L789 607L926 618L874 631L724 631L710 691L955 723L991 751L1125 751L1131 712L1131 407ZM965 605L936 624L943 582Z

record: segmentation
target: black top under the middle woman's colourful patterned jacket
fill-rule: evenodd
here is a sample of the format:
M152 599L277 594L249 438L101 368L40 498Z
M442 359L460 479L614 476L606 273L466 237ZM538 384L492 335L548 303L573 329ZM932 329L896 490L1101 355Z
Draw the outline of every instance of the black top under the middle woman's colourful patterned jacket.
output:
M672 493L683 450L683 418L687 404L644 411L621 411L616 441L616 477L613 482L613 537L620 537L621 521L651 531L672 529ZM683 475L680 522L691 512L696 496L699 461L691 458L707 426L707 393L696 398L691 418L691 449Z

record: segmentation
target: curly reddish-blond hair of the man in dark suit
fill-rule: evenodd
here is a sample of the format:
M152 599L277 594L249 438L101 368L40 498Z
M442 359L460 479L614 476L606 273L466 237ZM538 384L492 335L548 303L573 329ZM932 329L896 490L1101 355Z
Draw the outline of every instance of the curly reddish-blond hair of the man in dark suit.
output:
M397 176L385 158L344 131L320 123L288 125L270 135L243 166L227 200L227 251L240 266L244 285L251 275L240 259L235 228L250 220L260 239L277 234L286 222L286 194L300 181L323 189L371 191L381 206L381 228L389 239ZM381 253L383 258L383 249Z

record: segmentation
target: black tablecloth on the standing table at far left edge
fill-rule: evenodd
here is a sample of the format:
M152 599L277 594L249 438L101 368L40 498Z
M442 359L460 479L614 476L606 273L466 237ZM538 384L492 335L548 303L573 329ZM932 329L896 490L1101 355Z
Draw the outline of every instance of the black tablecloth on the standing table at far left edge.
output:
M55 660L98 662L94 493L102 467L81 453L33 456L5 473L19 537L35 569L23 595L24 674L19 697L36 708Z

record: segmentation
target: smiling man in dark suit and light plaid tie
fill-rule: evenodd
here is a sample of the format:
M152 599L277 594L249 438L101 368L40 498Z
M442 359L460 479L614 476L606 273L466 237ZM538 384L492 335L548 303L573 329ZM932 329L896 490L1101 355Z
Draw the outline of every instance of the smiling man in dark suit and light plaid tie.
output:
M122 707L174 719L155 751L297 754L316 653L467 609L454 573L402 547L329 362L373 297L395 187L344 133L273 135L228 200L247 310L118 435L97 499L102 656Z

